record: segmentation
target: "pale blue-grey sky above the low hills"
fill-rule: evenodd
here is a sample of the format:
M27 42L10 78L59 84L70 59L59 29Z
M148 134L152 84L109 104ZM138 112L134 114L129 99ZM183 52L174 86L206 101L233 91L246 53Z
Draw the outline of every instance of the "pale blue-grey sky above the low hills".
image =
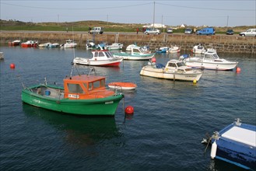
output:
M167 26L254 26L256 0L0 0L0 18L23 22L163 23Z

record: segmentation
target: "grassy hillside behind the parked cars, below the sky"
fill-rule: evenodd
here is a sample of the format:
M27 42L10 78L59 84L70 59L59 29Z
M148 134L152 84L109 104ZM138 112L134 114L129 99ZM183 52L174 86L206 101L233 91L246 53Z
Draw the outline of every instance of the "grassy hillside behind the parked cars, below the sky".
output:
M0 30L37 30L37 31L88 31L89 27L102 26L106 32L135 32L136 28L142 30L144 24L127 24L127 23L107 23L104 21L79 21L79 22L69 22L69 23L25 23L16 20L0 20ZM168 26L177 28L174 33L184 33L184 28L179 28L178 26ZM188 26L192 29L195 26ZM235 26L229 27L235 31L235 33L240 33L252 28L254 26ZM226 33L227 27L215 27L216 33ZM164 31L164 30L162 30Z

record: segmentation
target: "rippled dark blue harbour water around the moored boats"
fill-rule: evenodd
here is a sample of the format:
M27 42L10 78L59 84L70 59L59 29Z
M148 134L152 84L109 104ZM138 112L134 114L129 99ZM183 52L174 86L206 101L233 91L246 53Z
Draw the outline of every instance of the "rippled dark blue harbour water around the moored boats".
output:
M107 82L135 82L138 88L124 92L115 117L75 117L23 104L21 90L45 77L61 85L74 56L89 51L5 46L0 51L5 55L0 62L1 170L243 170L210 159L210 148L204 153L201 141L237 117L256 123L251 54L219 54L239 61L241 72L205 70L197 84L141 76L147 61L96 67ZM156 61L165 64L178 56L156 54ZM128 105L133 116L124 114Z

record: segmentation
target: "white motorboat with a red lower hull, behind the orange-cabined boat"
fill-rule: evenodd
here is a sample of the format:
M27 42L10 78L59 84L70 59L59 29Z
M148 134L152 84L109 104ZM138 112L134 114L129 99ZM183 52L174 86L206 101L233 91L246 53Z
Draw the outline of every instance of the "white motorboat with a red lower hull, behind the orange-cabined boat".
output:
M100 45L98 45L100 47ZM74 64L92 65L92 66L119 66L123 58L115 58L108 50L92 51L93 58L76 57L73 60Z

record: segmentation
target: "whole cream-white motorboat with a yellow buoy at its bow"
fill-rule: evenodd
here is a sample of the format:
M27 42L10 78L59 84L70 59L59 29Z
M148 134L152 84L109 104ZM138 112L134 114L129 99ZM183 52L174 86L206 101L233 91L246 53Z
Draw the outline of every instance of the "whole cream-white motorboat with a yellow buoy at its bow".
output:
M173 79L194 82L195 80L199 81L202 76L202 71L186 66L184 61L172 59L167 61L166 66L149 61L149 65L142 68L140 75L158 79Z

